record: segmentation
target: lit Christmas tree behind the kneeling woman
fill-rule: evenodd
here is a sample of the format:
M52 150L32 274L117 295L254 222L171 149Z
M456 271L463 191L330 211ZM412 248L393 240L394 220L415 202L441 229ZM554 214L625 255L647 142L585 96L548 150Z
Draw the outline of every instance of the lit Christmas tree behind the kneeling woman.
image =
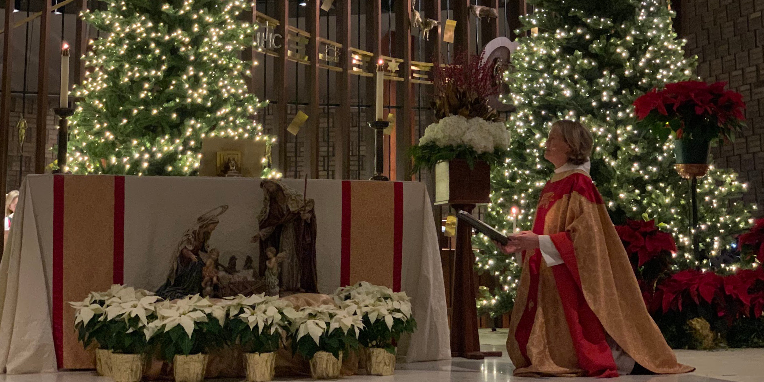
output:
M674 12L659 0L529 3L535 11L523 18L523 31L533 35L520 39L513 68L504 76L510 88L505 102L516 106L508 121L513 134L510 159L492 174L493 203L484 219L510 233L510 211L516 207L518 231L532 228L539 192L553 171L543 158L549 127L557 119L578 119L593 129L591 176L615 224L643 216L662 223L678 244L675 270L755 267L752 259L730 256L733 235L750 225L750 214L738 201L746 185L736 173L711 167L699 180L696 240L705 255L695 256L689 185L673 168L673 142L633 125L637 96L694 77L694 57L684 57L685 41L672 30ZM500 281L496 290L482 290L478 306L495 315L507 312L520 267L484 236L474 244L478 269ZM721 257L729 257L724 261L728 264L720 264Z

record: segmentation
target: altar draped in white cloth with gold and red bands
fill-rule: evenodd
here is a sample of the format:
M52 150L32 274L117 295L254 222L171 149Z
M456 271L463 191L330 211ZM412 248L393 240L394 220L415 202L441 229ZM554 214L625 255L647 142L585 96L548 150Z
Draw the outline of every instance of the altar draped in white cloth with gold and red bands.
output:
M425 186L357 180L278 184L288 190L282 202L315 228L316 284L303 281L301 288L332 293L368 281L406 291L419 328L399 344L399 358L450 358L439 247ZM264 189L261 180L244 178L28 176L0 262L0 371L93 367L92 355L76 342L68 302L112 283L159 290L178 257L188 253L183 243L189 235L202 235L209 254L214 251L207 264L219 264L219 278L230 278L227 293L267 287L261 278L263 241L257 239L267 236L260 231L267 213ZM217 287L215 293L221 293Z

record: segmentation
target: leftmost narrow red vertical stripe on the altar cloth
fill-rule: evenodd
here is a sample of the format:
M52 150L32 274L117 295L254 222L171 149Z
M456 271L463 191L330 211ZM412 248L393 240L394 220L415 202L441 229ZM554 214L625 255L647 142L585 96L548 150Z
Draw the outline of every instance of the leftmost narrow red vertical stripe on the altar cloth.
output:
M53 176L53 346L63 367L63 175Z

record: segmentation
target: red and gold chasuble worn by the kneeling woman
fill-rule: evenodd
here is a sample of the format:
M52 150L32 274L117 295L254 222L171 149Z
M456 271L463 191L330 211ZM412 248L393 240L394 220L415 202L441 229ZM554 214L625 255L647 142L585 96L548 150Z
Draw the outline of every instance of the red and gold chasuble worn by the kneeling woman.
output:
M549 235L564 264L541 251L523 255L507 351L523 377L617 377L610 335L649 371L693 371L678 364L649 316L629 258L588 173L555 174L544 187L533 232Z

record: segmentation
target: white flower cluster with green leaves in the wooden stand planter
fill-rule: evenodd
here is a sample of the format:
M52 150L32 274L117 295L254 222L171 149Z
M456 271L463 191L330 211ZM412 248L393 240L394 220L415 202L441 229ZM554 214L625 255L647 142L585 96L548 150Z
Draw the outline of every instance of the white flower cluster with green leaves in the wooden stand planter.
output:
M485 160L500 163L507 157L510 131L504 122L448 115L425 128L412 147L414 170L433 168L442 160Z

